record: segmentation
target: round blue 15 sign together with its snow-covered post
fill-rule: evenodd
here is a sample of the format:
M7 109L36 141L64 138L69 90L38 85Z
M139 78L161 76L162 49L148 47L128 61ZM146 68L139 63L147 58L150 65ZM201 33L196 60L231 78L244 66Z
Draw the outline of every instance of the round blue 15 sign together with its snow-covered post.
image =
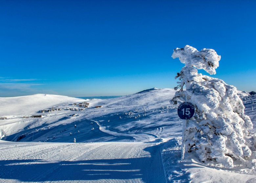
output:
M183 120L182 125L182 144L181 144L181 160L184 159L185 154L185 142L184 142L184 136L185 136L185 129L186 129L186 123L195 113L194 105L190 102L183 102L178 107L178 116Z

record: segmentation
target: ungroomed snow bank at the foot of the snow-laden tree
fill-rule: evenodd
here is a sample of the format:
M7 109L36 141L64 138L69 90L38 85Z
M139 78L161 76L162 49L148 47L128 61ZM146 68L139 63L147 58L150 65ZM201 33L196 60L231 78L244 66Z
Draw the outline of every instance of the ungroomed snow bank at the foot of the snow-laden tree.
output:
M179 183L254 183L255 170L228 170L206 166L197 159L180 160L181 138L173 138L165 142L162 151L162 161L167 182Z

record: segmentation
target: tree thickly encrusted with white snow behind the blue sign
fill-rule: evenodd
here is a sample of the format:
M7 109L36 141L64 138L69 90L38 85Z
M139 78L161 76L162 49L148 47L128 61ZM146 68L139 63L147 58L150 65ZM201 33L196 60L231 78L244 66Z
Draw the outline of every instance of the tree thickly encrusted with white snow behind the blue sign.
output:
M205 163L231 168L234 161L245 162L255 147L247 140L252 122L244 114L237 89L223 80L198 73L198 69L203 69L210 75L216 74L221 56L213 49L198 51L186 45L174 49L172 58L185 64L175 77L180 82L172 102L186 101L195 107L195 116L183 123L182 158L196 157Z

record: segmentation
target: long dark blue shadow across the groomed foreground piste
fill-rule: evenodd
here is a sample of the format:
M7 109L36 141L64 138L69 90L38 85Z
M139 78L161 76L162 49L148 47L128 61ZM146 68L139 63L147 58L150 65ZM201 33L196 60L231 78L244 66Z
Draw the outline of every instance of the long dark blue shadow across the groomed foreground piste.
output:
M127 159L94 159L48 162L42 159L2 160L0 178L19 181L137 179L136 182L166 182L159 145L144 150L151 155ZM86 158L86 157L85 157Z

